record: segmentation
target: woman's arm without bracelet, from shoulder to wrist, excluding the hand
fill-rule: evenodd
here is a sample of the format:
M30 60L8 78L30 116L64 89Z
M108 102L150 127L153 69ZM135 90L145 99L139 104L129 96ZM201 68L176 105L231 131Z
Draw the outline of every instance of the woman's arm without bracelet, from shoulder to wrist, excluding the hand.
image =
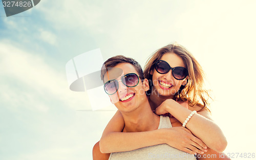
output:
M99 146L102 153L130 151L164 143L161 131L122 132L123 127L124 120L118 110L101 136Z

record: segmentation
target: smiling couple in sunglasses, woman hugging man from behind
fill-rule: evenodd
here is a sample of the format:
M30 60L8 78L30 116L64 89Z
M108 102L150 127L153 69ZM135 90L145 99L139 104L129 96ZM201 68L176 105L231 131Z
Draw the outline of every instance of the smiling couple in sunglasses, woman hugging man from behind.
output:
M211 120L202 68L181 45L157 50L144 73L134 59L112 57L101 78L118 111L93 148L94 160L196 159L197 153L197 159L229 159L219 153L227 142Z

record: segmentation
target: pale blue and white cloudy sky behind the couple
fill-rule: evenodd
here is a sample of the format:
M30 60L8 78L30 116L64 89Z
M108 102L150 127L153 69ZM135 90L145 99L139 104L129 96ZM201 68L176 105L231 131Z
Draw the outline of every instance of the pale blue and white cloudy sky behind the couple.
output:
M256 152L255 7L249 0L44 0L6 17L1 4L0 159L92 159L115 107L92 111L87 92L70 90L67 62L100 49L103 60L121 54L144 66L173 42L206 73L224 152L247 159Z

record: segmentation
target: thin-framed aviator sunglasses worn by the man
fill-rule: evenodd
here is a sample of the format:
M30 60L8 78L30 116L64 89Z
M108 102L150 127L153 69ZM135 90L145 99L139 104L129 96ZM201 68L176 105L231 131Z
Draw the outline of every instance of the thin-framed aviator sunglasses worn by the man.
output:
M122 81L122 83L127 87L135 87L139 84L139 76L136 75L135 73L129 73L121 76L121 80L113 79L105 82L104 90L106 94L108 95L115 94L119 87L119 84L118 84L119 81Z

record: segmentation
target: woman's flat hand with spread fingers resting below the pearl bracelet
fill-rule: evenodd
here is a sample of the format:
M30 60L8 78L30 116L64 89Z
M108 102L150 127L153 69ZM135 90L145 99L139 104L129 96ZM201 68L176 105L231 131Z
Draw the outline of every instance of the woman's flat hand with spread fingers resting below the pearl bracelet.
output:
M184 127L166 128L165 143L190 154L203 154L207 146Z

